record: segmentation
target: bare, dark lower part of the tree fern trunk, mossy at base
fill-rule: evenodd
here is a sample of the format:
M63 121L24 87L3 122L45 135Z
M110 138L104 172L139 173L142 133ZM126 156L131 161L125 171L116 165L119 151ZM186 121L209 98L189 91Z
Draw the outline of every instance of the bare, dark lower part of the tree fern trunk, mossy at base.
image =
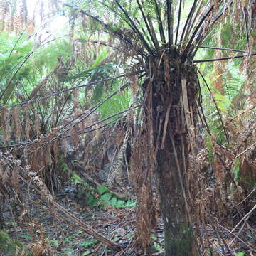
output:
M176 146L181 147L181 144ZM180 151L181 152L181 151ZM158 174L161 213L164 220L165 251L167 255L192 255L193 234L189 227L186 206L178 181L178 169L171 146L159 152Z

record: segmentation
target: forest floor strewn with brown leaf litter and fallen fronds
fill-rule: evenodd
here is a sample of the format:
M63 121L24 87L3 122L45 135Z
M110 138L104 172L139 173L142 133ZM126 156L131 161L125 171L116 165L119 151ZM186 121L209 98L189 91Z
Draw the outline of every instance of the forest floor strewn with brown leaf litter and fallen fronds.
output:
M19 213L19 217L16 216L13 206L9 203L5 204L3 215L6 226L4 229L13 240L22 242L28 251L34 252L34 255L36 255L35 250L44 248L44 254L38 254L40 256L164 255L164 232L161 218L158 220L156 234L152 235L151 251L144 254L143 250L138 250L135 246L136 213L134 206L129 208L115 208L110 205L98 205L93 208L82 206L80 201L78 203L78 198L74 194L76 192L75 187L66 187L55 195L56 201L88 226L97 230L98 233L117 242L119 245L123 245L125 250L121 252L109 250L100 240L96 240L92 236L63 223L63 221L57 220L53 215L42 210L42 208L38 208L31 201L26 201L27 212L26 214ZM23 214L27 215L27 223L21 220ZM33 221L30 223L29 220ZM28 224L33 226L33 228L29 227ZM255 251L246 250L239 240L233 242L232 247L230 247L231 251L228 252L225 250L225 246L220 245L220 238L218 238L213 228L210 228L210 225L208 225L208 232L208 240L214 250L213 256L255 255ZM228 234L223 229L220 229L218 233L221 233L227 244L234 238L233 235ZM247 237L248 235L250 234L247 233ZM203 231L201 236L206 241ZM210 255L210 252L203 253L202 255Z

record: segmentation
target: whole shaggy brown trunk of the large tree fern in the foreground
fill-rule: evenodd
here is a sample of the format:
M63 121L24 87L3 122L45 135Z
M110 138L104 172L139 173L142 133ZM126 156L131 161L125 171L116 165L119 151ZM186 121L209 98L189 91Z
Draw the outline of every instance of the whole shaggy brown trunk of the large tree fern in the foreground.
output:
M166 255L193 255L186 172L195 149L197 76L178 52L149 58L144 81L146 134L158 177Z

